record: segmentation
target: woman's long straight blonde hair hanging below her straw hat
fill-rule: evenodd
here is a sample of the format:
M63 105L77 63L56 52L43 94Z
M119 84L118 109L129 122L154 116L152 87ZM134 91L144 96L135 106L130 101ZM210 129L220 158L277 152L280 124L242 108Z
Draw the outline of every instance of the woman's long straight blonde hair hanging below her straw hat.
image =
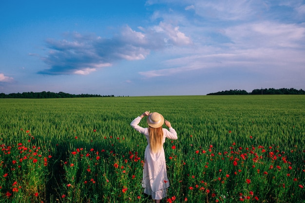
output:
M159 128L148 128L149 133L149 142L153 153L158 152L161 148L163 148L163 130L162 126Z

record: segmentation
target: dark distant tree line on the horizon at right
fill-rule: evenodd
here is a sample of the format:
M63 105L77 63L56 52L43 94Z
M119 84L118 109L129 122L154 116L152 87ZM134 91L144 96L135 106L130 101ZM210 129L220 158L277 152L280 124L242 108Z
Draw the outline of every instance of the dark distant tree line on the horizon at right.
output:
M293 88L286 89L256 89L252 92L247 92L246 90L226 90L221 92L209 93L207 95L245 95L245 94L305 94L304 90L296 90Z

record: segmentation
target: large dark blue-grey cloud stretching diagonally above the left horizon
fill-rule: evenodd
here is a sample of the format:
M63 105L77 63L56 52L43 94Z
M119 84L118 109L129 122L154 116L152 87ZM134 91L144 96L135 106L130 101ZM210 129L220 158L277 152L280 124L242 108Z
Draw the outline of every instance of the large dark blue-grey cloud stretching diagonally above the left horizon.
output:
M148 30L139 29L136 32L126 26L112 38L66 33L66 39L48 39L50 51L43 60L50 68L38 74L89 74L118 60L145 59L151 50L191 42L178 27L166 23Z

